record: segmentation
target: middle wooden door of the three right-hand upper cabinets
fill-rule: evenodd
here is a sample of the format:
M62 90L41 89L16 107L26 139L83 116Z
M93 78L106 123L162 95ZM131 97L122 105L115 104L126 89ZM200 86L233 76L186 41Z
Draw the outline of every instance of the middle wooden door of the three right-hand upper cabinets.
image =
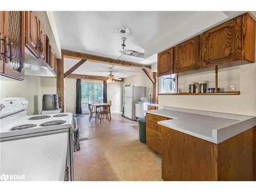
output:
M200 36L191 38L174 48L174 72L184 72L199 68Z

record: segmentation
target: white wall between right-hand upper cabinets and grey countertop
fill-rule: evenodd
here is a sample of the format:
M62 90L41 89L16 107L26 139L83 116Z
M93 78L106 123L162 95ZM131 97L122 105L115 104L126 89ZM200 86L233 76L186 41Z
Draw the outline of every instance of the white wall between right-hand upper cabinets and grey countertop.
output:
M214 72L203 76L193 76L183 79L181 86L187 89L188 81L209 78L214 79ZM219 87L228 91L229 84L237 84L240 95L159 95L159 109L164 105L197 110L256 116L256 63L239 66L231 71L220 72ZM210 87L214 84L210 82ZM181 88L182 89L182 88ZM183 90L181 90L183 92ZM185 90L187 91L187 90ZM184 92L185 92L184 91Z

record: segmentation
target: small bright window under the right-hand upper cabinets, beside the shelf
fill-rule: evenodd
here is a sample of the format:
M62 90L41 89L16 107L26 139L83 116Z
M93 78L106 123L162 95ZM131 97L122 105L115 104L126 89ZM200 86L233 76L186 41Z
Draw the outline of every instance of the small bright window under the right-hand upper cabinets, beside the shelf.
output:
M159 77L159 93L174 93L176 91L176 78L171 75Z

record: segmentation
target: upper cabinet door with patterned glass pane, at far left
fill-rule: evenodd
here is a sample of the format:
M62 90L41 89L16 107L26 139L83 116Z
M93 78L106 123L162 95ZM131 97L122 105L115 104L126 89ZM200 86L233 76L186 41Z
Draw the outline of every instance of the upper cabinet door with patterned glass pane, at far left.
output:
M6 76L24 79L25 57L25 12L5 11L1 13L1 30L4 31L5 40L1 40L2 54L1 69ZM6 37L6 38L5 38Z

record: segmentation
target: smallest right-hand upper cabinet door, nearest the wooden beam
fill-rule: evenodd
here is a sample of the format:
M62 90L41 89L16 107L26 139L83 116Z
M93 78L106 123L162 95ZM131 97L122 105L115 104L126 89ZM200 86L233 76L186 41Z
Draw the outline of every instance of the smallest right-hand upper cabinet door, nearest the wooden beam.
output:
M158 54L157 76L174 73L174 48L170 48Z

